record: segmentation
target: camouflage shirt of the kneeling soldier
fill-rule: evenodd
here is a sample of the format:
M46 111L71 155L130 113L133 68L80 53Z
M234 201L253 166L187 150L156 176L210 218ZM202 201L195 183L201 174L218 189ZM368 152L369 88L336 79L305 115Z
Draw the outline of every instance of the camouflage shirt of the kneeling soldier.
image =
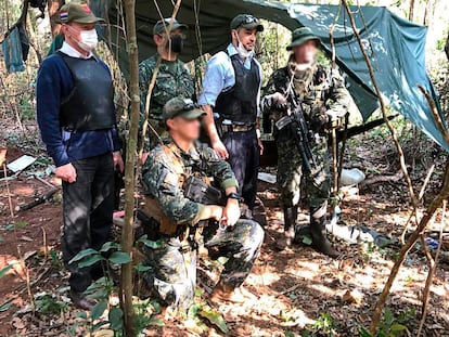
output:
M193 225L198 222L204 205L184 197L182 182L200 171L223 190L238 185L229 164L206 144L196 143L187 153L170 140L153 148L142 168L144 194L157 200L169 220Z

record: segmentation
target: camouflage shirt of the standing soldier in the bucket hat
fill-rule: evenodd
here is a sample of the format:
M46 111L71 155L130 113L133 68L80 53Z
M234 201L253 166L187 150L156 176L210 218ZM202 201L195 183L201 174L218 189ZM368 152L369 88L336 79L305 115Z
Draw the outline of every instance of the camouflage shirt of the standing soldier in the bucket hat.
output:
M350 103L350 95L337 69L326 69L320 64L313 64L304 72L294 72L295 63L292 57L286 67L275 70L267 86L264 96L280 92L285 96L292 94L300 103L306 118L312 120L319 115L333 114L344 116ZM264 115L277 121L284 112L265 111Z

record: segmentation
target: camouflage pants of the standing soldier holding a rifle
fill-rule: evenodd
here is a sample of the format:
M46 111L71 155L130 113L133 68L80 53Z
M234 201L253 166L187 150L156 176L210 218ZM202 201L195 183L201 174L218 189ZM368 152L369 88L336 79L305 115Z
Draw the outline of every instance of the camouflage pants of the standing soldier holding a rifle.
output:
M306 198L310 208L326 205L331 190L330 156L328 140L319 137L312 147L315 166L311 172L303 169L303 160L293 135L288 132L279 134L278 147L278 186L284 207L298 205L300 183L304 176Z

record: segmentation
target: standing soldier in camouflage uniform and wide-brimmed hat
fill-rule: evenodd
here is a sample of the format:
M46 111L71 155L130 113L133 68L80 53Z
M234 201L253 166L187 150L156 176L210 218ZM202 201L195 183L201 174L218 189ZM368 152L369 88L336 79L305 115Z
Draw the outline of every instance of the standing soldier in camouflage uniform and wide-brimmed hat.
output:
M315 159L311 171L302 163L298 147L291 130L275 134L278 147L278 184L284 208L284 239L281 247L288 246L295 236L300 183L304 177L306 197L310 207L310 232L312 246L332 257L336 251L326 238L325 218L330 197L331 173L328 150L329 126L347 113L350 95L336 69L325 69L316 61L320 39L307 28L293 33L287 50L293 53L286 67L275 70L264 89L265 116L274 124L287 114L286 106L300 104L315 141L310 144ZM275 127L274 127L275 128Z

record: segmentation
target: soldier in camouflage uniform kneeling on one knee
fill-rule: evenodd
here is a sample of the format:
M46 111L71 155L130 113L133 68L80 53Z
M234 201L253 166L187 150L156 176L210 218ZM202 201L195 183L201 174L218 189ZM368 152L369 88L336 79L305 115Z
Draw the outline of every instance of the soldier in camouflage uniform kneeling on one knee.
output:
M251 296L242 293L241 285L264 239L264 230L257 222L240 219L241 197L229 164L196 141L204 114L191 100L170 100L164 107L168 142L156 146L142 168L145 194L142 210L158 224L156 238L162 242L159 248L146 251L153 267L149 285L165 304L183 309L194 297L198 239L204 242L209 257L228 258L211 300L233 302L243 302ZM224 191L226 206L203 205L187 198L184 182L191 176L210 178ZM206 221L202 235L196 228L200 221Z

